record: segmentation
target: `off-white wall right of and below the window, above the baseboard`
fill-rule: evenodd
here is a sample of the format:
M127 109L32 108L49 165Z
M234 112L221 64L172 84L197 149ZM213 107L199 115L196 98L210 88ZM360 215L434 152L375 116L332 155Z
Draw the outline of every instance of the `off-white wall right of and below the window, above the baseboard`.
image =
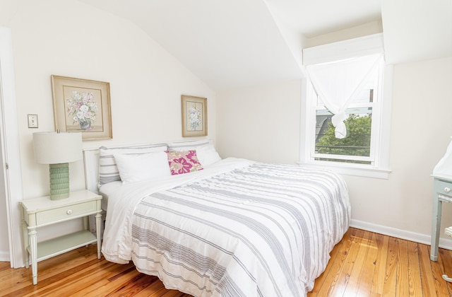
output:
M347 177L353 217L430 235L432 174L452 136L452 57L394 67L388 180ZM443 227L452 225L444 205ZM441 231L441 235L443 232Z

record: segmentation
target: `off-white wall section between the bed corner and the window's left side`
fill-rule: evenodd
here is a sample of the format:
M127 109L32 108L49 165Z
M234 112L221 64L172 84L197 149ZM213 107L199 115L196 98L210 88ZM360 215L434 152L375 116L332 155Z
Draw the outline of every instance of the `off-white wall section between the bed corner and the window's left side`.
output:
M217 148L223 158L295 164L301 81L217 93Z

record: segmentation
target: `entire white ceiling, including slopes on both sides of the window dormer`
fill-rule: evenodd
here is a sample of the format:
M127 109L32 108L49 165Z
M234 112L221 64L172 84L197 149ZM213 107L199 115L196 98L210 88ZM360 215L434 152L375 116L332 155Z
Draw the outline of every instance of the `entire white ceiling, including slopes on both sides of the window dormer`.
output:
M369 22L388 63L452 56L451 0L78 1L135 23L215 91L301 78L310 39Z

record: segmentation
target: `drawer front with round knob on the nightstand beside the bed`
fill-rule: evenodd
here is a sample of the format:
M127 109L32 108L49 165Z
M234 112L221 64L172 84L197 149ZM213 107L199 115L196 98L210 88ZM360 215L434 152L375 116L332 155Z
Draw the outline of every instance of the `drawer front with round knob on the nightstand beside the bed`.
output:
M75 216L93 213L96 210L96 201L90 201L80 204L73 204L71 206L62 206L59 209L40 211L36 214L36 224L39 226L41 224L49 223L52 221L71 219Z

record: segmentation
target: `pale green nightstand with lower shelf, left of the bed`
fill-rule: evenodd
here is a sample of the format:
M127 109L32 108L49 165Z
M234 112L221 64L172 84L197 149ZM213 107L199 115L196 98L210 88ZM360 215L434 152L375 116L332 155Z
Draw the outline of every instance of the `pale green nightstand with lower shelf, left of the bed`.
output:
M25 266L28 268L31 257L33 284L37 284L39 261L91 243L97 243L97 258L100 259L101 199L99 194L81 190L71 192L69 198L61 200L50 200L47 196L20 202ZM88 216L92 214L95 214L96 235L88 230ZM84 230L37 243L37 228L78 218L83 218Z

